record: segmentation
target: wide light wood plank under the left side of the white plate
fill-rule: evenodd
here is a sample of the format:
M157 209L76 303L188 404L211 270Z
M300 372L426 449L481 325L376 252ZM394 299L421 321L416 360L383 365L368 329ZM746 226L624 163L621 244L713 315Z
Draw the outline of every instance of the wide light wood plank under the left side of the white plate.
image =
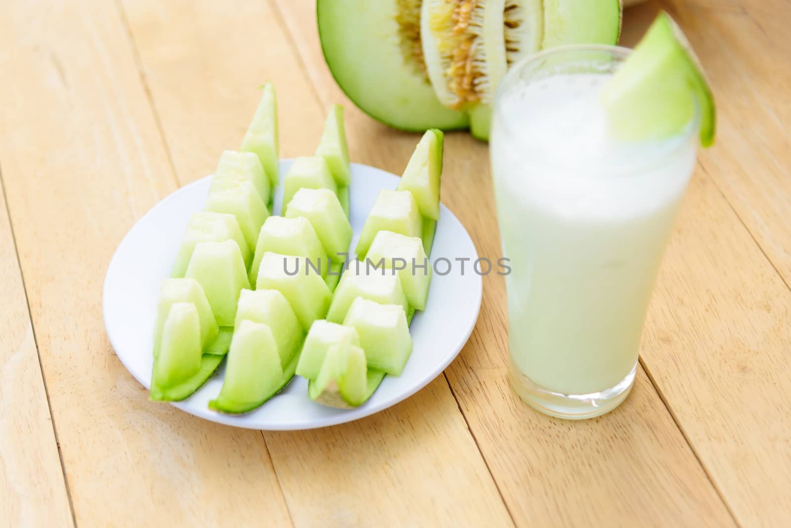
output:
M288 525L259 433L149 402L104 334L115 245L176 187L118 7L3 15L0 159L78 524Z

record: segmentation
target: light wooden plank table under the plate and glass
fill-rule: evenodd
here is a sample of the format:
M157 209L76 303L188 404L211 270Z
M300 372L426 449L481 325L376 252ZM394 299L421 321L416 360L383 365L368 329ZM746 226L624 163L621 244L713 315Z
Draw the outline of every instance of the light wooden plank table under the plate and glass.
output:
M706 65L720 126L619 409L569 422L520 402L490 275L470 341L424 390L352 424L263 433L149 402L104 334L116 244L239 145L267 79L283 157L312 152L335 102L354 161L400 173L418 136L346 100L312 2L226 3L3 2L0 524L788 526L787 1L664 2ZM627 11L626 43L656 9ZM486 145L448 134L446 153L443 201L498 255Z

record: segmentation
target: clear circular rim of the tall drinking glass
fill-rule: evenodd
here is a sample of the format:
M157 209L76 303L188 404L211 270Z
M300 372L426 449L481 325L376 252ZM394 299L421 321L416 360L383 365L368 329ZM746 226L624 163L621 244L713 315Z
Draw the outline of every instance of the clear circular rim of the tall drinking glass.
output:
M557 46L547 50L538 51L532 55L527 55L526 57L520 58L516 63L513 64L513 66L509 67L494 96L494 119L497 119L498 122L501 123L501 127L509 134L510 137L517 138L517 140L520 142L520 148L528 150L531 156L535 155L534 159L536 160L542 160L547 162L547 164L550 166L554 164L555 166L562 168L568 168L568 165L564 164L562 160L547 157L546 152L543 149L534 148L531 145L531 141L523 141L524 135L520 134L519 130L515 130L512 126L512 123L510 123L508 117L504 113L501 100L506 85L513 83L514 77L517 77L525 67L528 67L533 63L538 63L549 56L562 55L564 53L570 53L573 51L604 52L609 54L611 57L625 59L630 55L632 49L629 47L613 46L610 44L566 44L564 46ZM614 170L612 171L613 175L617 176L631 172L648 171L650 169L659 167L661 164L667 162L668 159L675 157L680 151L687 148L691 138L698 134L700 119L700 104L697 98L694 98L694 115L690 119L689 123L687 123L685 128L681 130L679 134L677 134L677 138L679 138L678 145L673 145L672 149L660 151L655 156L649 157L647 160L640 160L634 163L615 166L613 167Z

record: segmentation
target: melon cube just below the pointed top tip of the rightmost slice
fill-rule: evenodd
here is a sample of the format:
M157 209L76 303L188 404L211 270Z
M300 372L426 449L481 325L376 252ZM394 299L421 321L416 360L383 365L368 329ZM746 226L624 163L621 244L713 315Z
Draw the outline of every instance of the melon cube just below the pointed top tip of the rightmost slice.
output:
M405 236L422 235L422 219L418 204L408 190L380 190L377 201L362 226L357 243L358 258L365 258L373 237L380 231L392 231Z

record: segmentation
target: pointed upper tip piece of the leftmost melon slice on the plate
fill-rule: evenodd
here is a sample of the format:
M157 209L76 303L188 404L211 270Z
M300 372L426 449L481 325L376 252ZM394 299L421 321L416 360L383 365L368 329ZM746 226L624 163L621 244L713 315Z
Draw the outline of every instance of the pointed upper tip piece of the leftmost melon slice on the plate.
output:
M263 85L261 102L244 134L240 150L258 155L271 188L278 187L278 101L270 82Z

